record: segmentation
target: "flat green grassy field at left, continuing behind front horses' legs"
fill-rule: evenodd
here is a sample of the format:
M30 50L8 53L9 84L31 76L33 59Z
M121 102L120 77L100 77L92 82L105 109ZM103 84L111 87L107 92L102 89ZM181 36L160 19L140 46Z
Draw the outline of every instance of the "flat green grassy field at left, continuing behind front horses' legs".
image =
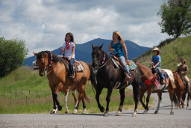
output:
M95 94L92 85L87 84L87 96L91 103L87 103L89 113L98 113ZM101 102L105 105L106 90L103 90ZM59 94L59 100L64 106L64 96ZM110 110L116 111L119 104L119 93L112 94ZM126 90L125 109L134 104L132 92ZM81 105L82 106L82 105ZM80 106L80 109L82 108ZM70 112L73 112L74 101L69 96ZM52 109L51 91L46 77L40 77L38 72L28 67L20 67L8 76L0 79L0 113L49 113ZM64 113L65 108L61 111Z

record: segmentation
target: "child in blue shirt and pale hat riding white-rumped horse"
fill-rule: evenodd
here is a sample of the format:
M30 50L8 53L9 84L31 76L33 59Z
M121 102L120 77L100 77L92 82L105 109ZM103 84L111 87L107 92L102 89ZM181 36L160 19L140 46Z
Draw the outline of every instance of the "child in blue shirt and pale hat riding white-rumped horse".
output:
M152 73L157 73L160 77L161 84L164 84L164 75L160 71L160 64L161 64L161 56L160 56L160 50L159 48L155 47L153 50L153 56L152 56Z

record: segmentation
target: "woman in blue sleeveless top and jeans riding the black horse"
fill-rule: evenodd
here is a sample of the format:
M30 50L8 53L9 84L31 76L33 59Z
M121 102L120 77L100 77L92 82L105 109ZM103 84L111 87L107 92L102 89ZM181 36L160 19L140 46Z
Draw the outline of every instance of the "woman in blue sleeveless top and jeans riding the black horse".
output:
M130 68L128 66L128 53L127 53L127 47L125 45L125 41L122 39L119 32L115 31L113 32L112 41L109 46L109 50L113 52L113 54L119 58L120 63L123 65L126 75L126 80L130 80L131 73Z

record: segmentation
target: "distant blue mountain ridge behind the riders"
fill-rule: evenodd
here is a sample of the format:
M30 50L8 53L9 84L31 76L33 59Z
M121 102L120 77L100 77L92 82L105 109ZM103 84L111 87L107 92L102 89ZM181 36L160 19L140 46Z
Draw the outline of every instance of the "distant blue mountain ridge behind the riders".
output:
M94 40L90 40L83 44L76 45L76 59L82 60L88 63L91 63L91 52L92 52L92 45L97 46L103 44L103 50L108 52L108 46L111 40L97 38ZM135 59L145 53L146 51L150 50L148 47L140 46L132 41L126 40L125 41L128 49L128 55L130 59ZM60 48L53 50L54 54L60 54ZM23 65L31 66L32 62L35 60L35 57L28 57L24 60Z

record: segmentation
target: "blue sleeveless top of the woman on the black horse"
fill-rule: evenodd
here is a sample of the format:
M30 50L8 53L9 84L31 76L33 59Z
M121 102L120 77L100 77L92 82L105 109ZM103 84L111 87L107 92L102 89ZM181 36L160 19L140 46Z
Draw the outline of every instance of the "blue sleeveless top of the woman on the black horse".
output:
M113 43L113 41L112 41L111 47L114 49L114 54L116 56L118 56L118 57L124 56L123 47L122 47L120 41L118 41L117 43Z

